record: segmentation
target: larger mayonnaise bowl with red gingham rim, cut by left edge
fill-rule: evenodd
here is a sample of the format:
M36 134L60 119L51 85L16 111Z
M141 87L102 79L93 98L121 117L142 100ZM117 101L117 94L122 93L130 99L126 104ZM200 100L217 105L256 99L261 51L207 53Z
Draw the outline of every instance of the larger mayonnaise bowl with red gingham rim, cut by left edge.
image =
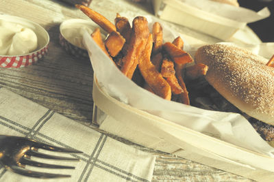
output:
M0 67L25 67L48 52L49 33L25 18L0 14Z

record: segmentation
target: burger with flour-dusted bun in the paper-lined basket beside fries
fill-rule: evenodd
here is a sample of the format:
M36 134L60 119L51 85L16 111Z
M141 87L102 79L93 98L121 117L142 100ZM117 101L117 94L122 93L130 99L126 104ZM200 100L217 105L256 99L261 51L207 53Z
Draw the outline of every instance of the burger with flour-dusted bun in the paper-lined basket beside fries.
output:
M190 103L238 112L274 147L274 67L268 59L227 44L199 48L196 63L208 65L204 78L186 82Z

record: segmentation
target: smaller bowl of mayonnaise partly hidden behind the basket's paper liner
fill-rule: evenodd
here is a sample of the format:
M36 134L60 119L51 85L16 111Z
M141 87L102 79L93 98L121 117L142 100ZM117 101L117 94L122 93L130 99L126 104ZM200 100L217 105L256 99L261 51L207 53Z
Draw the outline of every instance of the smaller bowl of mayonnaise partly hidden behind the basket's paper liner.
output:
M69 19L60 25L60 44L69 54L88 59L88 51L83 44L83 34L88 32L91 34L98 25L92 20ZM105 31L101 30L102 33ZM105 38L103 36L103 38Z

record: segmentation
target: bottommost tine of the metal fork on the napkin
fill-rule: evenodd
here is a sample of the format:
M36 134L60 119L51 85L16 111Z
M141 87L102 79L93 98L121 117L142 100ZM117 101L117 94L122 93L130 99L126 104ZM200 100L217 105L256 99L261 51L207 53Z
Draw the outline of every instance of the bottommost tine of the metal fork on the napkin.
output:
M27 170L24 168L20 168L17 166L12 166L12 168L10 168L10 169L19 175L24 175L27 177L35 177L35 178L40 178L40 179L71 177L71 175L60 175L60 174L53 174L53 173L47 173L47 172L36 172L33 170Z

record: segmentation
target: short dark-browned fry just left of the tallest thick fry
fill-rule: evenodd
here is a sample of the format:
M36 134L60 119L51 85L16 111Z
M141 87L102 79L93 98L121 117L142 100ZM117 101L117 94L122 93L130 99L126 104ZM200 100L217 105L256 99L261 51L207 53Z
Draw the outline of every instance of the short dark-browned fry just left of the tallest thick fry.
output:
M116 30L125 38L125 42L129 42L132 36L132 27L130 27L129 20L117 13L114 21Z

